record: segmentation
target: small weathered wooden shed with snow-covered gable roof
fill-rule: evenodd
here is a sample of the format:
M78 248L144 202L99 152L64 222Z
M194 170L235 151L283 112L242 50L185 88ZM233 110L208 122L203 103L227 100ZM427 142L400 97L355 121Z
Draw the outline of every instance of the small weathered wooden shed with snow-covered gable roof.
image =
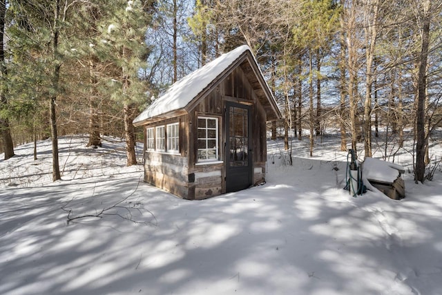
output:
M195 70L154 100L144 126L144 181L198 200L265 181L266 122L281 114L248 46Z

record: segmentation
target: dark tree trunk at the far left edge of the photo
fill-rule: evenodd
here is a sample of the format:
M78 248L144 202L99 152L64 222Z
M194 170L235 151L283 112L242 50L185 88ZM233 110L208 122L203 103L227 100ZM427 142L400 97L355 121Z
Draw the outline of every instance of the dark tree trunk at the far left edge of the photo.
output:
M8 87L6 86L6 76L8 71L5 63L5 48L4 48L4 32L5 32L5 15L6 15L6 0L0 2L0 109L5 108L8 104L6 93ZM14 142L12 142L10 123L8 118L0 118L0 132L3 142L3 151L5 153L5 160L14 156Z

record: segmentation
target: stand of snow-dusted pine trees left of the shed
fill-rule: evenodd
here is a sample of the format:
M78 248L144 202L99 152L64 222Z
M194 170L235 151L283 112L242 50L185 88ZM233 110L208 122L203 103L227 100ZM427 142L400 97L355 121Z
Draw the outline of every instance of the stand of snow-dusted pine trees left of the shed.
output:
M140 70L152 10L147 0L1 0L5 159L14 155L12 134L23 142L50 137L59 180L59 134L87 132L88 146L100 146L100 133L120 131L127 163L136 163L132 120L146 102Z

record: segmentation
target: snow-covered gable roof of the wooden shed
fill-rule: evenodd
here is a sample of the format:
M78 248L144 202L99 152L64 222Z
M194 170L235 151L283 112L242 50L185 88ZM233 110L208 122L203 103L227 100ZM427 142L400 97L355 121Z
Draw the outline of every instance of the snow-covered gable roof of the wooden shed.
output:
M247 55L252 57L252 61L249 59L249 63L253 64L251 66L258 70L258 73L255 73L255 75L259 76L258 80L260 80L260 87L265 88L267 99L271 104L271 108L273 108L273 111L275 112L275 115L272 117L279 118L280 111L271 91L269 90L269 86L262 77L262 73L255 58L251 54L249 46L244 45L231 50L229 53L220 55L220 57L213 59L213 61L205 64L202 68L195 70L193 73L186 75L186 77L175 82L164 95L155 99L146 110L135 117L133 124L135 126L140 126L151 118L160 115L175 112L177 112L177 115L180 113L186 113L184 108L186 108L195 97L200 95L200 93L204 93L220 76L229 72L229 70L232 70L234 66L238 64L238 61L242 60L241 57L246 57ZM253 72L256 71L254 70Z

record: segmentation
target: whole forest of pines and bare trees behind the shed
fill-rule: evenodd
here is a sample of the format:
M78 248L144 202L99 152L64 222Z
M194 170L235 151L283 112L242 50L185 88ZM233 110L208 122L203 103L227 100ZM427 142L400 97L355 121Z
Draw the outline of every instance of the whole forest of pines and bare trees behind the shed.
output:
M136 164L133 118L247 44L284 115L269 127L285 149L306 137L314 155L334 129L342 151L394 158L388 144L410 137L423 182L442 122L441 21L442 0L0 0L0 153L51 138L59 180L59 135L94 147L113 135Z

